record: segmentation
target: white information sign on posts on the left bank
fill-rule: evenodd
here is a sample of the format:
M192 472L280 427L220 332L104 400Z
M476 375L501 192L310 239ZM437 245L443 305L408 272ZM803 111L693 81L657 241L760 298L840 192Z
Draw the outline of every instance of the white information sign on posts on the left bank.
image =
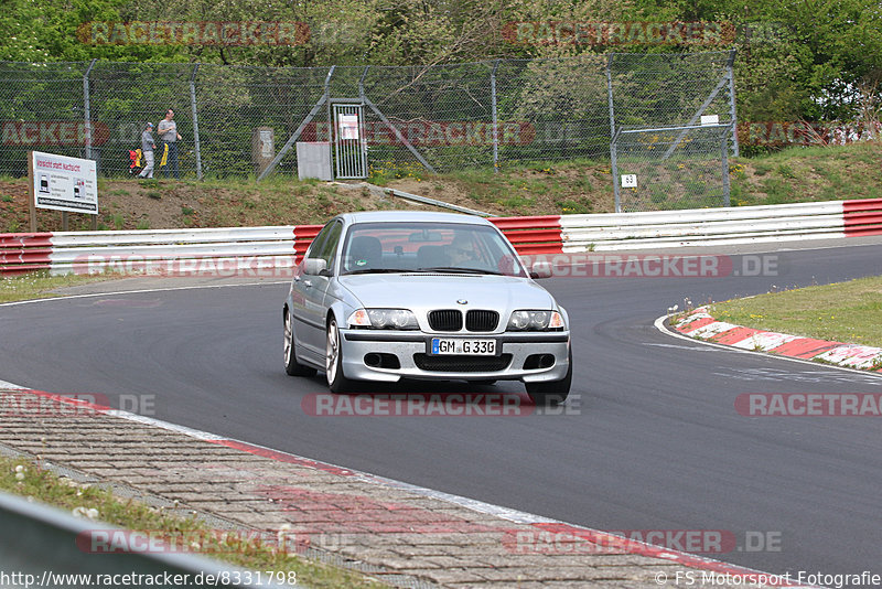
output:
M98 214L95 160L32 151L34 204L71 213Z

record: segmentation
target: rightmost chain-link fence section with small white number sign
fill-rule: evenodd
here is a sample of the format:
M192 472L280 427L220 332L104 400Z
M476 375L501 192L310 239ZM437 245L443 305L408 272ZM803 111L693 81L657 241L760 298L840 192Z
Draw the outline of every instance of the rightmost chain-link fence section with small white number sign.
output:
M615 54L607 66L617 212L729 206L734 52Z

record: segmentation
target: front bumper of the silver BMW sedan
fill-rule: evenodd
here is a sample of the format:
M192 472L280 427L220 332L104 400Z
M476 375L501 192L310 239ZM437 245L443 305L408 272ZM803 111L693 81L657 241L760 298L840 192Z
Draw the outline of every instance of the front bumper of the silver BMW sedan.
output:
M440 362L449 365L442 370L435 370L434 366L427 368L426 358L430 356L428 354L429 342L432 338L496 340L496 356L469 356L465 363L471 363L471 365L467 370L456 370L455 361L462 356L431 356L429 362L441 358ZM395 382L400 378L494 379L523 381L525 383L560 381L567 376L569 370L569 346L570 334L568 331L429 334L420 331L341 330L343 374L347 378L362 381ZM400 367L368 365L365 358L369 354L392 354L398 358ZM538 355L552 355L553 365L525 367L525 363L527 366L535 365ZM420 367L418 363L423 366ZM484 363L487 366L482 367ZM490 366L492 364L496 364L496 366ZM503 364L503 367L498 367Z

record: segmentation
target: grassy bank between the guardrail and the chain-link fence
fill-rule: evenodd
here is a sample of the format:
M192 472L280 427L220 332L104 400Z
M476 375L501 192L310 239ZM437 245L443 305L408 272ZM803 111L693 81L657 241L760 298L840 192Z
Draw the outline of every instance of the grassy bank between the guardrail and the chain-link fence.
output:
M670 165L687 170L685 164ZM729 169L733 206L882 197L882 143L795 147L732 159ZM687 172L680 180L688 183ZM609 161L537 162L444 174L386 162L373 168L368 181L503 216L614 211ZM320 224L345 211L427 208L378 197L362 186L280 175L259 183L227 178L204 182L101 179L98 184L103 229ZM662 182L653 190L665 195L679 189ZM87 217L71 215L71 228L88 228ZM41 231L61 229L58 212L41 210L37 221ZM26 181L0 178L0 233L26 232L28 227Z

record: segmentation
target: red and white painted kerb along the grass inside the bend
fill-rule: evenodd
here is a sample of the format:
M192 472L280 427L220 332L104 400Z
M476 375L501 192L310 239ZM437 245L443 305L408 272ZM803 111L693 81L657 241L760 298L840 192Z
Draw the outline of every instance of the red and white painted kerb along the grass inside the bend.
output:
M688 312L671 322L671 328L684 335L708 342L731 345L741 350L768 352L772 354L815 360L849 368L882 372L882 347L828 342L788 335L773 331L744 328L725 321L718 321L708 313L707 307Z

